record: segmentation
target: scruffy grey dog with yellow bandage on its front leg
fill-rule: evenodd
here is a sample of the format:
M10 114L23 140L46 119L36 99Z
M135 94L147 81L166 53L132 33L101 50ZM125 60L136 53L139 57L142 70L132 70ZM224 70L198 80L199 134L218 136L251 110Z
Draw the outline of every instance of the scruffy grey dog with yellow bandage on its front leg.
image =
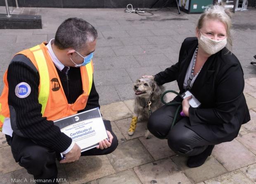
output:
M149 115L163 105L161 102L161 94L164 92L164 89L164 86L158 86L156 84L153 76L143 76L140 79L137 79L133 86L136 97L134 114L130 123L128 135L133 135L139 116L140 121L147 121ZM146 130L145 137L149 139L151 136L149 130Z

